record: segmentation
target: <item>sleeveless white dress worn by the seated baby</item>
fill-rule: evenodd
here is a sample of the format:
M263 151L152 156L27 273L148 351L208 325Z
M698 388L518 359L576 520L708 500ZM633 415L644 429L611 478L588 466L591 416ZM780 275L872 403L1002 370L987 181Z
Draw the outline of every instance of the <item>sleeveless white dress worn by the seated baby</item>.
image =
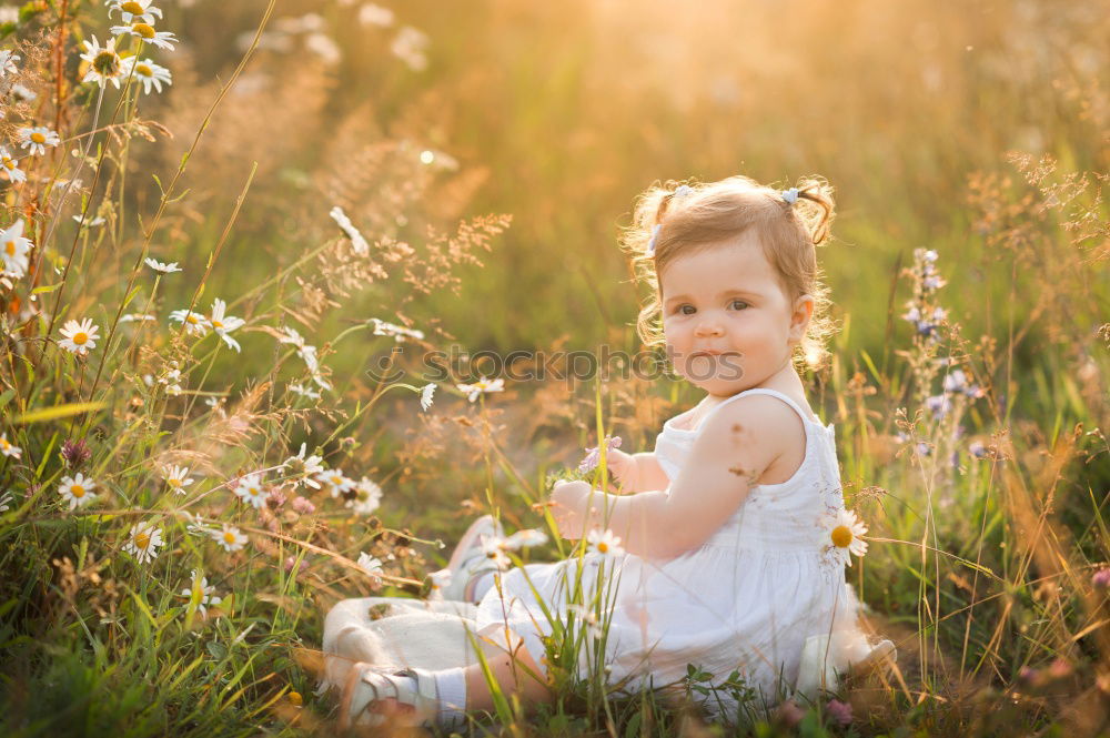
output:
M698 548L666 562L632 554L605 559L606 572L619 575L604 600L612 606L605 644L609 684L663 687L686 677L687 665L719 684L738 670L755 690L756 702L766 707L795 691L813 699L818 688L835 688L836 673L870 651L844 564L825 546L821 518L844 508L833 425L823 426L788 396L765 388L728 397L709 415L754 394L778 397L801 416L805 458L788 481L753 486L736 513ZM656 458L672 481L707 419L690 431L676 425L682 417L667 421L655 443ZM582 586L587 597L595 592L602 559L585 556ZM506 572L501 590L491 589L478 605L480 633L508 626L543 665L542 636L553 628L533 587L552 619L565 621L566 583L574 582L575 570L572 558ZM719 714L736 705L718 689L706 707Z

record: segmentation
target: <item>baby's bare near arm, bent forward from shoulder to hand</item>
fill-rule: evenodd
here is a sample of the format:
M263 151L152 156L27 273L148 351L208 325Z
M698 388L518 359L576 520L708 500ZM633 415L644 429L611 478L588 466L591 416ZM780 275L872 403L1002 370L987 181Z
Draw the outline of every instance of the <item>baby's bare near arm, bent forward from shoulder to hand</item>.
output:
M705 423L669 489L622 497L587 489L571 520L576 529L564 535L607 527L627 552L659 559L705 543L781 454L783 439L797 433L798 419L774 397L755 395L729 403Z

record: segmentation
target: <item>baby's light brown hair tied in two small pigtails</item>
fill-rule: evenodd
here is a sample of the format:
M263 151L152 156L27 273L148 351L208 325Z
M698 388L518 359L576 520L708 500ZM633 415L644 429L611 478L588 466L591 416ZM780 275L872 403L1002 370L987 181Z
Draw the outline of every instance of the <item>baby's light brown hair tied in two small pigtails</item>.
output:
M835 327L816 246L829 237L836 205L833 188L823 178L804 178L795 186L796 200L736 175L708 184L668 181L636 199L633 224L623 229L620 245L632 256L636 277L650 287L636 321L646 345L664 343L659 275L667 265L754 229L787 297L814 297L814 314L794 360L800 367L821 366Z

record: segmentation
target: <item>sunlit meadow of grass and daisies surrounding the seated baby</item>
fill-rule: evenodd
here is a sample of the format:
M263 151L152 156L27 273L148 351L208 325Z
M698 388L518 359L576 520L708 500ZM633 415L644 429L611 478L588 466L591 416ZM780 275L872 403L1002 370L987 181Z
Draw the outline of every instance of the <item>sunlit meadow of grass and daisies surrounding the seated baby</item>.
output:
M1110 735L1108 38L1106 0L0 7L0 734L341 735L333 604L425 596L483 513L552 534L554 478L700 398L636 333L635 196L817 174L804 380L897 663L737 726L556 665L472 728Z

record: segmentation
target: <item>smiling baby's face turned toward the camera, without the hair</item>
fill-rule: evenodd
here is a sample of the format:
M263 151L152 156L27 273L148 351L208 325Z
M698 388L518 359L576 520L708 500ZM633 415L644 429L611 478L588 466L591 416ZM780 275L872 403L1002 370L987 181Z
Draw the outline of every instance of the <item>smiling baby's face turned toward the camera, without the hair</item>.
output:
M675 260L659 280L667 355L690 383L728 396L790 365L811 300L796 301L797 315L754 232Z

